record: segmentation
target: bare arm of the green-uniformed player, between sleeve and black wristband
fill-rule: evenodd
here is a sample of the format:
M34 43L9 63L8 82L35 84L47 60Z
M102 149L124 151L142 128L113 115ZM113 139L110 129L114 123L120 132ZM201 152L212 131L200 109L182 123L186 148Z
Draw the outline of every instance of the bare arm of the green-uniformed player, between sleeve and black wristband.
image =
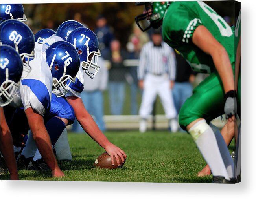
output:
M215 68L223 83L225 93L234 90L232 65L223 45L221 45L203 25L199 25L195 29L192 41L202 51L212 56Z

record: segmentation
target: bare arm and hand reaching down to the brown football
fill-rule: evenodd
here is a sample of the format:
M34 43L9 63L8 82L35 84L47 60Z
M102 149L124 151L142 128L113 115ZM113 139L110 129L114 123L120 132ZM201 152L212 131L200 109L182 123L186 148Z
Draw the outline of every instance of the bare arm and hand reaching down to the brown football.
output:
M101 147L103 147L111 156L112 165L114 165L114 156L119 156L124 162L124 158L126 158L125 152L118 148L116 145L113 145L101 132L92 116L85 109L82 99L77 98L76 96L68 96L66 99L68 100L68 103L73 107L76 119L80 123L83 130L85 130L85 132L87 132L87 134L92 137L92 139L94 139ZM120 165L119 158L116 158L116 161L118 165Z

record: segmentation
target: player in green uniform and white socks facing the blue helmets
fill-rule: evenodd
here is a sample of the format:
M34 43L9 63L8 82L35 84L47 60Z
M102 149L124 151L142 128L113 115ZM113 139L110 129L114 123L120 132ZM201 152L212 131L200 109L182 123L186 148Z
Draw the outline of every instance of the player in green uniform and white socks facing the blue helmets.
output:
M214 176L213 183L234 183L234 163L221 133L210 123L226 114L234 123L234 34L204 2L138 2L145 5L135 18L145 31L162 25L162 36L197 72L210 75L194 90L179 113L179 124L193 137ZM144 27L144 20L150 24ZM148 24L148 23L147 23ZM238 101L240 90L238 90Z

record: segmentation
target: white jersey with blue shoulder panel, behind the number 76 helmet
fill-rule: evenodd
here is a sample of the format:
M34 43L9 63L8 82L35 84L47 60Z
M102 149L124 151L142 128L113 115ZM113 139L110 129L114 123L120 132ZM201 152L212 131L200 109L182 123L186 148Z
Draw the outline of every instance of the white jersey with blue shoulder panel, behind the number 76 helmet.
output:
M20 88L13 92L10 106L33 108L43 116L50 110L52 98L52 73L46 62L43 51L45 45L35 43L35 58L29 62L31 71L20 81Z

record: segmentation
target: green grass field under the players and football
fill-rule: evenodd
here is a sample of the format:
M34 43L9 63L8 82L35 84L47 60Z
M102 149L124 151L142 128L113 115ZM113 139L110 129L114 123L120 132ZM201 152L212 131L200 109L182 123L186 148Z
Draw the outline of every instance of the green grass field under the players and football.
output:
M20 180L59 181L116 181L116 182L169 182L211 183L212 176L197 177L205 161L192 137L186 133L171 134L155 131L140 134L136 131L106 132L108 139L127 154L121 169L94 168L95 159L104 149L87 134L69 133L73 155L70 162L59 162L65 177L55 179L50 172L19 170ZM234 143L230 145L230 150ZM1 174L9 179L9 174Z

